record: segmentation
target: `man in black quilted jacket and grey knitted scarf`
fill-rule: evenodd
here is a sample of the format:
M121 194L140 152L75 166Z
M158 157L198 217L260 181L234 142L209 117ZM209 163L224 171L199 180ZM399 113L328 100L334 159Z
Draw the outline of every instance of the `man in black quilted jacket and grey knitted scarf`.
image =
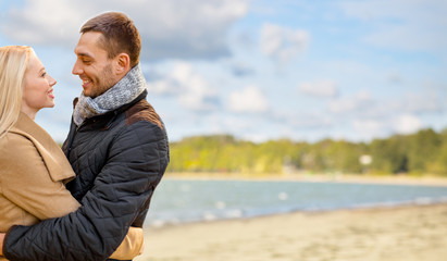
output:
M9 260L105 260L129 226L141 227L169 163L164 125L146 101L140 37L109 12L80 29L73 74L83 80L63 150L77 174L66 187L82 207L4 237Z

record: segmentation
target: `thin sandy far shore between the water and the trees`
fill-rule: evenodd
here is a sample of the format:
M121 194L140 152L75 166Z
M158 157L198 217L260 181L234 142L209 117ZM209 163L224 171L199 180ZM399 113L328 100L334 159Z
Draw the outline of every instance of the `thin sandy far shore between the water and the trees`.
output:
M393 184L420 186L447 186L447 177L410 175L353 175L353 174L219 174L219 173L166 173L164 178L172 179L237 179L237 181L276 181L276 182L333 182L360 184Z

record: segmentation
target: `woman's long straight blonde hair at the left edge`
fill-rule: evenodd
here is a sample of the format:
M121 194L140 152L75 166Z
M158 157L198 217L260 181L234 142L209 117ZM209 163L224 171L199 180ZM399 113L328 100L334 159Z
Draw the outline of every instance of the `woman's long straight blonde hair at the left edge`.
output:
M23 78L33 48L0 47L0 138L17 122L23 95Z

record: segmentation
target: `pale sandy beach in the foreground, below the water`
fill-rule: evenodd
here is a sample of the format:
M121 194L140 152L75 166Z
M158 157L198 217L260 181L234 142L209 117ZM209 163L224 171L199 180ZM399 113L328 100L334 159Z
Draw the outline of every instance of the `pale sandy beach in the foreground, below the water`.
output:
M137 261L445 261L447 204L147 227Z

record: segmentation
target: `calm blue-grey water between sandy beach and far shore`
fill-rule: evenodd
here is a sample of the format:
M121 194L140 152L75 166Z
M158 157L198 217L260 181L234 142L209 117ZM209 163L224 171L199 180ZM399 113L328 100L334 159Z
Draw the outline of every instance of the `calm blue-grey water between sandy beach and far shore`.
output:
M447 202L447 187L310 182L164 179L146 225Z

